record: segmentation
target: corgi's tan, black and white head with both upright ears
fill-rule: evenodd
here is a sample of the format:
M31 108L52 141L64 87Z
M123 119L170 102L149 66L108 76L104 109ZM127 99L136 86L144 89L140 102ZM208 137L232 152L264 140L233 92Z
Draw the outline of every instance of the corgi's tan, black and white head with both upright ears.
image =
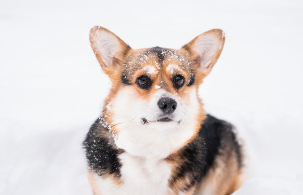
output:
M181 49L135 50L102 27L91 29L90 41L112 82L102 117L119 148L161 159L196 137L205 118L197 91L221 54L222 30Z

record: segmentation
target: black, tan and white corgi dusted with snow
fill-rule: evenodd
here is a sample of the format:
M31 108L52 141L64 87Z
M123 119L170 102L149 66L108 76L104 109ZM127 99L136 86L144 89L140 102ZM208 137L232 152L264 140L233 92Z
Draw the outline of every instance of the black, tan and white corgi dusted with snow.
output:
M197 93L224 31L180 49L132 49L96 26L90 42L112 83L83 142L93 195L229 195L241 186L235 128L206 114Z

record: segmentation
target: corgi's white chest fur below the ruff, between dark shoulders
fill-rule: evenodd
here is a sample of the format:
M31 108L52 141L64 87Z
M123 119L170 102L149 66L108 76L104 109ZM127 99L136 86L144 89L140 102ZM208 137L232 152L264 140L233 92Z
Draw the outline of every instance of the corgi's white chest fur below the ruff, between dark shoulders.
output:
M165 160L151 160L119 155L121 160L121 184L99 178L98 187L106 194L167 195L172 191L168 187L171 165Z

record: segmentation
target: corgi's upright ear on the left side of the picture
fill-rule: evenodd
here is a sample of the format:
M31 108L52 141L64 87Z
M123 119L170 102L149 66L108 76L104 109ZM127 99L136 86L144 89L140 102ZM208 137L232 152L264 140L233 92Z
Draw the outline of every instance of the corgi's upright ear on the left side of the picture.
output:
M117 75L130 46L111 31L99 26L91 29L90 41L102 70L110 78Z

